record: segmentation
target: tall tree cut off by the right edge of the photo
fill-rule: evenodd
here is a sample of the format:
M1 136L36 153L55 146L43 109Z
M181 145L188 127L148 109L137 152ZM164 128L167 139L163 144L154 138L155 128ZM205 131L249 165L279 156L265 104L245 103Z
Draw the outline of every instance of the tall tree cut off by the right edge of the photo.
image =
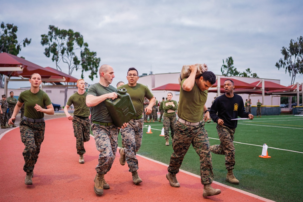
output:
M298 41L290 40L289 48L282 47L281 54L284 56L276 62L278 69L285 69L291 77L291 84L295 83L297 74L303 74L303 37L300 36Z

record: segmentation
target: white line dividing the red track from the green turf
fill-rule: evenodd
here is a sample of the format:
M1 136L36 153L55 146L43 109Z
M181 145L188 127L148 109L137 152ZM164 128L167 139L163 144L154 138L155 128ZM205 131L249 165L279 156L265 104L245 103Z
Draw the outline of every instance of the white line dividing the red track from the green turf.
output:
M168 167L168 165L167 165L167 164L164 164L164 163L162 163L162 162L160 162L160 161L155 161L155 160L153 160L153 159L151 159L151 158L148 158L148 157L142 156L142 155L140 155L140 154L136 154L136 155L137 155L137 156L139 156L139 157L145 158L145 159L147 159L147 160L149 160L149 161L152 161L152 162L155 162L155 163L158 163L158 164L161 164L161 165L164 165L164 166ZM187 171L181 170L181 169L180 169L180 172L182 172L182 173L185 173L185 174L188 174L188 175L191 175L191 176L194 176L194 177L197 177L197 178L201 179L201 176L199 176L199 175L196 175L196 174L193 174L193 173L190 173L190 172L187 172ZM274 202L273 200L269 200L269 199L266 199L266 198L260 197L260 196L255 195L255 194L251 194L251 193L246 192L246 191L243 191L243 190L241 190L241 189L237 189L237 188L234 188L234 187L230 187L230 186L228 186L228 185L225 185L225 184L222 184L222 183L219 183L219 182L216 182L216 181L213 181L212 183L214 183L214 184L218 184L218 185L220 185L220 186L222 186L222 187L225 187L225 188L227 188L227 189L231 189L231 190L238 191L238 192L240 192L241 194L245 194L245 195L248 195L248 196L250 196L250 197L253 197L253 198L256 198L256 199L259 199L259 200L263 200L263 201L265 201L265 202Z

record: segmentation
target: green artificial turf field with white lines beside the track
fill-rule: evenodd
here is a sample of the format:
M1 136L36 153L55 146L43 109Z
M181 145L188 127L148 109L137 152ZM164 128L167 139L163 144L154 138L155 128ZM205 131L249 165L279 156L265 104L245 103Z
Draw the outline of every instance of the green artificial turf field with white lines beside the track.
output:
M153 134L146 133L147 124L151 125ZM164 137L159 136L163 127L162 122L147 124L144 127L142 146L138 154L169 164L173 149L171 140L170 145L165 146ZM205 129L208 131L210 144L220 144L216 124L213 122L205 124ZM234 139L236 150L234 174L240 184L225 181L227 173L225 156L218 154L212 154L214 180L275 201L302 201L302 136L303 117L262 116L254 120L238 121ZM269 147L268 155L271 158L259 157L264 143ZM122 146L121 135L118 136L118 146ZM199 157L192 146L185 155L180 169L200 175ZM163 179L165 180L165 177Z

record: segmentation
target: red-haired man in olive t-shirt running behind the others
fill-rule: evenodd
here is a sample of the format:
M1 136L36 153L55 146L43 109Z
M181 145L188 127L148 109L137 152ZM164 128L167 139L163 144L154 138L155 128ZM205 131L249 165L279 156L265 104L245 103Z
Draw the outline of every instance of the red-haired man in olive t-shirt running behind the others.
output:
M76 149L79 154L79 163L84 164L85 148L84 143L89 141L90 138L90 120L89 120L89 107L86 106L85 98L87 92L85 91L84 79L77 81L78 91L72 94L64 107L64 112L68 120L73 122L74 135L76 137ZM68 108L74 105L74 117L68 113Z

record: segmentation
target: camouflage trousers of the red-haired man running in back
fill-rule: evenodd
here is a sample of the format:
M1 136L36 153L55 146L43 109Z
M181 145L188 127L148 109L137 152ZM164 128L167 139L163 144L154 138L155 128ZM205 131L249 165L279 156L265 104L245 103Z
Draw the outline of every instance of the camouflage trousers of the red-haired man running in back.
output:
M89 141L90 138L90 120L89 118L79 118L73 117L73 128L74 128L74 136L76 137L76 149L77 154L82 155L85 154L84 143Z

